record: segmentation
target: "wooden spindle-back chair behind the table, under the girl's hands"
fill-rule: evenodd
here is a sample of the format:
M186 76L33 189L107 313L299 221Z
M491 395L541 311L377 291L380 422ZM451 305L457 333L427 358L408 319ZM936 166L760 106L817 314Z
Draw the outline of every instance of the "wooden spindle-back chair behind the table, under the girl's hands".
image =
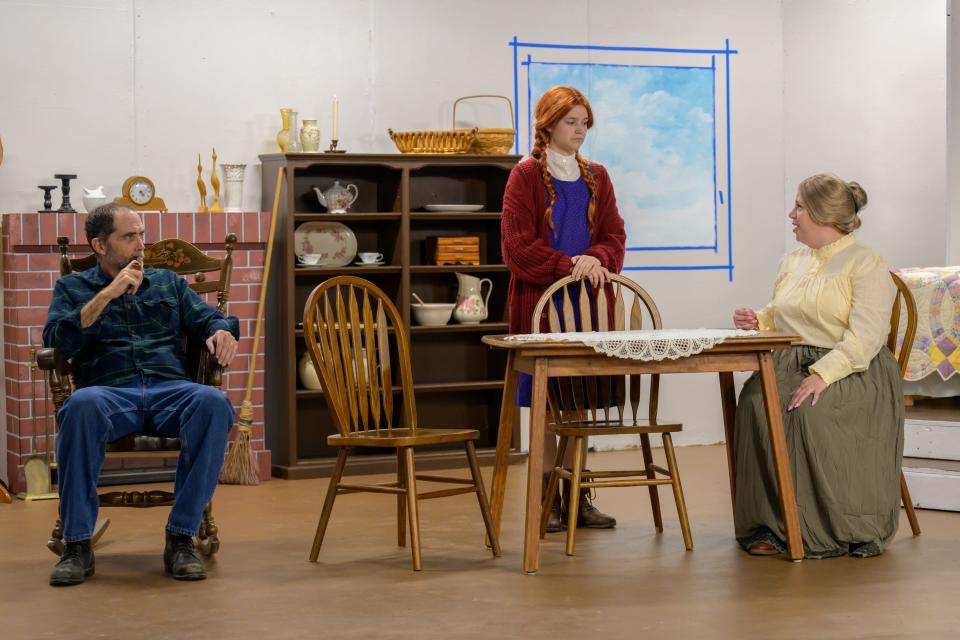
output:
M625 331L643 328L660 329L660 312L653 298L629 278L610 275L611 283L603 288L604 295L597 295L587 280L574 280L568 276L551 285L540 297L533 312L533 328L542 328L544 314L549 332L563 331ZM624 292L633 294L629 308ZM572 295L571 295L572 293ZM554 300L554 296L560 300ZM558 309L559 307L559 309ZM646 314L644 314L644 310ZM649 325L643 326L644 315ZM557 457L550 473L547 487L547 502L543 506L540 521L540 537L546 533L547 517L553 506L560 478L570 481L567 522L567 555L574 554L579 511L580 488L600 487L649 487L650 507L657 533L663 532L660 514L659 485L673 489L680 530L687 550L693 549L690 523L687 519L680 471L673 450L671 433L683 429L676 422L661 422L657 418L657 402L660 392L659 374L650 375L647 418L640 414L641 375L553 378L548 385L548 403L552 424L550 430L559 436ZM629 392L627 382L629 380ZM629 395L628 395L629 394ZM629 402L630 415L625 415ZM616 411L612 411L612 409ZM667 468L654 464L650 449L650 434L660 434L663 439ZM587 437L636 434L640 436L643 452L643 468L618 471L583 470L587 450ZM563 458L573 440L573 462L570 470L563 468Z

